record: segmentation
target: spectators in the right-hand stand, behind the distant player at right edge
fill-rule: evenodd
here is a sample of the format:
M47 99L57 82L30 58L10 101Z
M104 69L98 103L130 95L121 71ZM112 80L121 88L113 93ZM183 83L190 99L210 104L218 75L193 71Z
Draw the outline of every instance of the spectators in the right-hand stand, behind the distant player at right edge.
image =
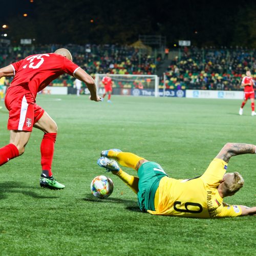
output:
M167 89L241 90L242 76L247 69L255 74L255 50L185 47L170 62L165 86Z

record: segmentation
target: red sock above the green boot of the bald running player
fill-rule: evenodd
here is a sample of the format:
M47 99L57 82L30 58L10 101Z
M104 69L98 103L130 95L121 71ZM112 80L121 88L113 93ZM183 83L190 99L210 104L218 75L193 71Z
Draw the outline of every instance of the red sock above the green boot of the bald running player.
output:
M54 153L54 143L56 141L56 133L45 133L41 142L41 165L43 173L47 173L46 176L52 176L52 159Z

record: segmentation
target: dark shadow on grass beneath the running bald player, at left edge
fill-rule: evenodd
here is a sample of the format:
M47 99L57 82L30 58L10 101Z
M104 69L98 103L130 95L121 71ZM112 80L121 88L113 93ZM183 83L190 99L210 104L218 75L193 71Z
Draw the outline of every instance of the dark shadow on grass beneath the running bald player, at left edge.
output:
M26 190L27 189L27 190ZM38 198L38 199L45 199L45 198L58 198L58 197L49 197L49 196L41 196L29 189L37 189L34 186L27 186L20 182L15 181L7 181L7 182L0 182L0 200L6 198L5 194L8 193L22 193L23 195Z

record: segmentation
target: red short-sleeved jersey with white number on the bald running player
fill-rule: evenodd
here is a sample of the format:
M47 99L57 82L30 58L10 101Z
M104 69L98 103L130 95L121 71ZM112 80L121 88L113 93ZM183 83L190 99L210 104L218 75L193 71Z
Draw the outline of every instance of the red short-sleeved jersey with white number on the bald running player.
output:
M10 87L28 85L33 97L64 73L74 76L79 68L66 57L55 54L35 54L11 64L14 78Z

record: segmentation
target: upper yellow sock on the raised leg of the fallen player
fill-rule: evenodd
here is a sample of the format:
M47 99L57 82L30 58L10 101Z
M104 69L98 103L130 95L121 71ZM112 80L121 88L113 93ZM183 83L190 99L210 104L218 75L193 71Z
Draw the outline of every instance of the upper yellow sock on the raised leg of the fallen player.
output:
M144 159L143 157L139 157L133 153L128 153L128 152L115 152L110 150L108 153L109 158L114 158L117 160L122 166L126 167L132 167L136 169L137 163L141 160Z

